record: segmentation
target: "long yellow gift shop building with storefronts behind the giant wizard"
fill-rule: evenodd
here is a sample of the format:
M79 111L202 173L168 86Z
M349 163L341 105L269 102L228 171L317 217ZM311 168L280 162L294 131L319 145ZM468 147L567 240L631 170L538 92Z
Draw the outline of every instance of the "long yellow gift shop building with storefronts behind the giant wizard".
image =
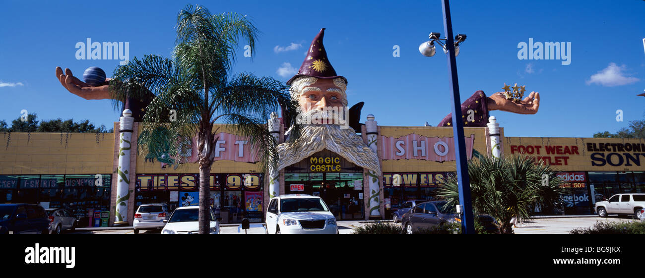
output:
M374 121L372 116L370 121ZM320 196L337 219L389 219L402 202L437 199L437 189L455 172L450 127L376 127L376 153L381 167L377 179L344 155L322 149L280 170L280 194ZM284 130L283 124L279 128ZM119 123L115 123L119 130ZM141 131L134 123L132 148ZM220 127L217 154L210 176L211 204L223 223L243 218L264 221L272 195L270 172L260 172L255 152L242 136ZM486 127L466 127L466 156L491 155ZM357 138L368 141L364 128ZM639 139L504 137L501 151L526 154L559 172L567 194L557 211L538 214L592 214L596 201L613 194L645 192L645 142ZM94 212L110 212L114 223L117 203L128 207L128 222L144 203L167 203L171 208L199 203L196 144L181 157L168 159L164 150L130 153L126 180L130 198L117 198L119 136L105 134L5 134L0 150L0 202L39 203L67 208L92 225ZM122 158L123 159L123 158ZM370 191L376 180L377 192ZM379 200L373 208L370 196ZM119 202L117 202L119 200ZM539 209L539 208L538 208Z

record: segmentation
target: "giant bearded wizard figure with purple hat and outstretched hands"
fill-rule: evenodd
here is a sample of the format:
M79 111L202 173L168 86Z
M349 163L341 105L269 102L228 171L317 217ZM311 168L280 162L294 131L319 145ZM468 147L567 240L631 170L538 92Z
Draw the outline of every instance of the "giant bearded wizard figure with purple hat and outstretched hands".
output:
M299 102L301 113L305 118L327 118L329 107L346 107L348 105L346 89L348 79L338 75L328 58L327 51L324 48L323 37L324 28L313 38L313 41L307 51L303 64L298 73L286 83L290 85L290 93L293 100ZM64 72L57 67L56 77L67 91L78 95L87 100L110 99L114 94L110 93L110 79L99 86L90 86L85 82L77 79L72 75L72 71L66 69ZM497 92L489 97L484 91L476 91L461 105L462 115L465 127L484 127L488 124L490 111L501 110L518 114L535 114L539 108L540 95L537 92L531 92L528 97L522 98L524 86L515 85L513 91L515 96L509 94L509 86L504 86L504 92ZM126 98L120 100L123 102L123 109L128 110L124 114L125 120L132 119L140 122L146 111L146 106L152 100L152 93L148 98ZM337 153L349 162L364 169L364 178L368 179L369 196L366 196L369 211L366 214L370 218L382 218L382 212L379 209L379 192L381 192L382 174L381 162L377 155L377 133L373 116L368 115L366 122L366 138L357 135L361 133L360 120L362 102L355 105L349 111L350 126L352 128L343 128L339 124L304 124L301 131L301 137L295 142L286 142L278 145L279 163L277 166L269 167L268 176L270 197L281 194L279 172L285 167L300 162L312 154L323 149ZM283 116L283 119L286 118ZM372 119L370 121L370 118ZM284 120L283 120L284 121ZM370 123L371 122L371 123ZM272 132L279 133L280 119L273 114L269 120L268 128ZM282 122L288 129L293 123ZM372 126L370 126L370 124ZM447 115L439 122L438 126L452 126L452 115ZM278 140L286 134L275 134ZM127 139L127 138L124 138ZM129 147L129 145L128 145ZM123 196L119 196L123 198ZM118 210L117 205L117 210ZM118 213L118 212L117 212ZM123 220L125 216L123 216Z

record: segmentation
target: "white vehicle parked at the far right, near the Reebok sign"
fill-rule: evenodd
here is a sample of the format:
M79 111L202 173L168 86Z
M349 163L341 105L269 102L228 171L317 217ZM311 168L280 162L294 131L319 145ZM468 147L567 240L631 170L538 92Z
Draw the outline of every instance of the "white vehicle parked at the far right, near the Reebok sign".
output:
M616 194L607 201L596 203L595 209L600 217L608 214L627 214L640 218L642 209L645 208L645 194Z

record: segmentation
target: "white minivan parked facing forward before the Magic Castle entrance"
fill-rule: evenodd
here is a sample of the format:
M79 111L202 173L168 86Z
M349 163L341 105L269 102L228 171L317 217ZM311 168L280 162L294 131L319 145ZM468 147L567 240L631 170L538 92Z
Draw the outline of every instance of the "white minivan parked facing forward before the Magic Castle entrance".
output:
M338 234L323 199L305 194L277 196L266 210L267 234Z

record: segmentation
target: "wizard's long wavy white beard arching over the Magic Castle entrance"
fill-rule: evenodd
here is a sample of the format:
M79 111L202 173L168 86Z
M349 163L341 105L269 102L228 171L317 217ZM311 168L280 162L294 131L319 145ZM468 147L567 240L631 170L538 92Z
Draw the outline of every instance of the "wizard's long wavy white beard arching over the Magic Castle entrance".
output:
M313 154L328 149L346 160L381 176L379 156L362 141L353 129L340 125L304 125L301 137L294 143L278 145L278 171L300 162Z

